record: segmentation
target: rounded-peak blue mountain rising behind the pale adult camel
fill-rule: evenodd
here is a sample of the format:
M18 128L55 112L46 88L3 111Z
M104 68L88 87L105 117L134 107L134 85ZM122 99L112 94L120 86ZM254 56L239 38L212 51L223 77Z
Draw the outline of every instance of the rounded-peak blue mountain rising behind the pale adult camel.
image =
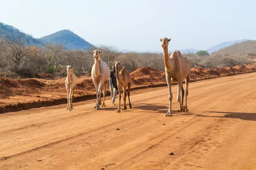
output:
M47 35L45 37L39 38L39 40L46 43L62 43L67 49L89 49L93 45L85 41L77 34L73 33L70 30L64 29L53 34Z

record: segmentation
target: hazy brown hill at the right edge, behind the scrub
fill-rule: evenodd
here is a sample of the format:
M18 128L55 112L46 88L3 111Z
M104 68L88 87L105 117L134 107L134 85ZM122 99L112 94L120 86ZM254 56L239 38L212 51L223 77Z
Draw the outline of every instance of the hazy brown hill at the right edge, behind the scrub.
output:
M256 41L255 40L247 40L237 44L233 44L229 47L220 49L211 53L211 55L233 55L233 54L248 54L248 53L256 53Z

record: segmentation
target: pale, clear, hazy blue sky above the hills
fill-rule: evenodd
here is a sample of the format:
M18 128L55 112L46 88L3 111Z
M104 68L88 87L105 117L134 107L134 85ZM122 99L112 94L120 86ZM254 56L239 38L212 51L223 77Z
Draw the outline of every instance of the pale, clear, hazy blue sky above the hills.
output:
M35 38L69 29L93 45L206 50L256 40L256 0L0 0L0 22Z

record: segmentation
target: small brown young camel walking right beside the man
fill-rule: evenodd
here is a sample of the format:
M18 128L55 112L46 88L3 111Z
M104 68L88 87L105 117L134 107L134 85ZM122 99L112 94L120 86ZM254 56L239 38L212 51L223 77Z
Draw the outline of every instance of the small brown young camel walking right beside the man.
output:
M129 108L132 109L131 101L130 101L131 75L127 71L126 67L122 68L122 70L119 71L120 62L115 62L114 65L116 68L117 87L118 87L118 91L119 91L119 106L118 106L117 113L120 113L121 112L120 111L120 101L121 101L121 93L122 93L121 85L123 86L123 91L124 91L124 94L123 94L124 107L122 108L122 110L127 109L127 106L125 104L125 102L126 102L126 86L128 86L127 94L128 94L128 99L129 99Z

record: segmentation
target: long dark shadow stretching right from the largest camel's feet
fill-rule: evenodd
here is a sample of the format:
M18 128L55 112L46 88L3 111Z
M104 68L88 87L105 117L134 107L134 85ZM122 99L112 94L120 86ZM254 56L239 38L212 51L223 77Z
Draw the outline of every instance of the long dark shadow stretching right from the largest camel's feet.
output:
M216 116L201 115L197 113L216 113ZM225 115L220 116L218 114L225 114ZM195 113L187 112L186 114L177 112L176 115L177 116L180 115L180 116L212 117L212 118L230 118L230 119L256 121L256 113L225 112L225 111L196 111Z

